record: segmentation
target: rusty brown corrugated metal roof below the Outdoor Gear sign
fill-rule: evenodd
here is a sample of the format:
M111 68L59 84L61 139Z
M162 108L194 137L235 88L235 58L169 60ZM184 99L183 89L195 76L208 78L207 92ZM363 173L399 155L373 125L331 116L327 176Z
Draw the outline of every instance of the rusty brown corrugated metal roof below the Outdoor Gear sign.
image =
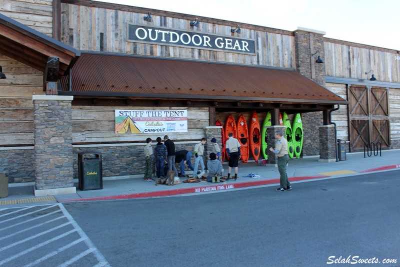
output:
M61 87L68 90L68 78ZM68 94L62 92L62 94ZM71 95L291 103L347 102L295 71L208 62L82 53Z

